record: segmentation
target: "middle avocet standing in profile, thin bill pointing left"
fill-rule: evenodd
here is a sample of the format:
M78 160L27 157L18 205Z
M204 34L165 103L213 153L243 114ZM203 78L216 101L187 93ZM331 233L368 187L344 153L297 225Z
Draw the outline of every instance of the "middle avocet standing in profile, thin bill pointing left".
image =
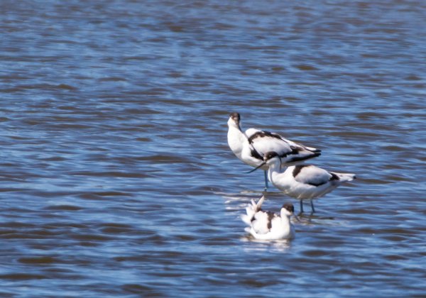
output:
M310 200L312 212L315 212L312 199L322 197L340 184L356 178L355 174L328 172L315 165L292 165L280 172L280 156L275 152L266 153L263 160L269 167L269 180L288 196L300 199L301 212L304 199Z

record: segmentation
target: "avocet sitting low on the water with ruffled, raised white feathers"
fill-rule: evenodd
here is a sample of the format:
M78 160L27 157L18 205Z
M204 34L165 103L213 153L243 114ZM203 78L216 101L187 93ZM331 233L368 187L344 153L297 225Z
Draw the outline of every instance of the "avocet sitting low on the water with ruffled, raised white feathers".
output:
M290 221L290 216L294 214L293 204L286 203L280 209L280 214L271 211L261 210L265 196L259 199L256 204L253 199L247 206L246 213L241 219L249 226L245 228L247 233L256 239L278 240L295 237L295 227Z

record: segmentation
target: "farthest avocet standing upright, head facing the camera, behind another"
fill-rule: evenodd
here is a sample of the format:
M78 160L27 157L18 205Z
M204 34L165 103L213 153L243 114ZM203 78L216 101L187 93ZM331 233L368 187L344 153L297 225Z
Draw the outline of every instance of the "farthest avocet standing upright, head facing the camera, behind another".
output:
M293 165L297 162L315 158L321 155L321 150L295 143L283 138L278 133L261 131L249 128L245 133L241 131L240 114L231 113L228 119L228 145L237 158L252 167L263 164L263 155L275 151L284 165ZM263 165L265 172L265 190L268 189L268 166Z

